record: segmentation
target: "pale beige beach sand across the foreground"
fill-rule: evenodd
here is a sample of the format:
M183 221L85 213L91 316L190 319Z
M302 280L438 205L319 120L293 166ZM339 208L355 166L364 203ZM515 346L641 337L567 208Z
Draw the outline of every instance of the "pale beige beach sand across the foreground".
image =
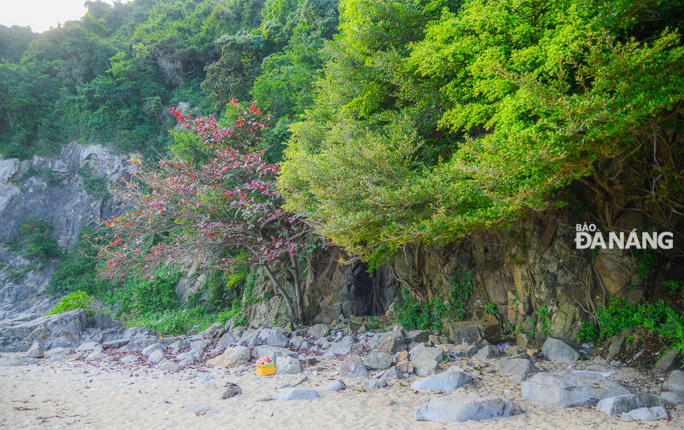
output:
M334 359L327 359L320 374L306 375L308 381L299 387L321 390L335 380L335 366ZM567 368L547 362L538 366ZM232 373L236 369L246 370ZM0 429L684 429L684 412L672 408L670 420L622 422L593 408L553 408L522 401L520 384L489 369L482 371L475 383L459 390L505 396L521 405L522 415L449 424L417 421L409 413L422 398L442 394L410 390L415 377L371 392L348 387L322 392L313 400L258 401L276 396L280 387L302 375L258 376L249 366L163 374L147 366L100 362L0 367ZM205 373L216 377L211 382L218 390L207 390L211 383L195 382ZM614 377L632 392L660 391L660 381L648 373L619 369ZM243 394L221 400L227 382L239 384ZM396 404L387 406L385 399Z

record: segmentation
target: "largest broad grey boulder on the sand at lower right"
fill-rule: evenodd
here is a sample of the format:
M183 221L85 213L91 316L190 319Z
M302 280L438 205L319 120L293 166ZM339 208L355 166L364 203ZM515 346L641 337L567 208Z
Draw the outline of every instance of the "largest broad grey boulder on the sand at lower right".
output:
M594 406L607 397L630 394L622 385L595 373L537 373L523 383L523 400L550 406Z

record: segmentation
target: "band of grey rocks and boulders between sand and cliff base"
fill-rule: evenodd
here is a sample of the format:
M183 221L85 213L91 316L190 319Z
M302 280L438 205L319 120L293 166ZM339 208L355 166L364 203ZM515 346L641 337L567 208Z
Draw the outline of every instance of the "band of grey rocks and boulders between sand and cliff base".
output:
M399 391L410 399L402 420L416 423L503 423L531 413L530 405L590 410L613 424L682 428L684 422L681 370L653 373L610 366L592 351L580 354L572 343L554 338L539 351L492 345L486 339L454 344L433 332L399 326L387 332L361 331L351 334L348 327L320 324L290 332L283 327L230 327L229 322L192 336L163 337L107 317L88 318L82 310L69 311L3 321L2 348L15 352L3 357L0 378L7 385L10 374L87 367L104 374L128 373L134 380L140 374L193 380L203 384L202 392L216 391L212 401L244 399L253 394L252 383L270 386L278 381L272 394L255 401L315 404L335 392L359 399L372 393L386 407L397 404L389 394ZM260 357L274 360L276 375L256 375ZM490 387L493 381L503 389ZM211 406L201 415L219 414L221 408L207 404Z

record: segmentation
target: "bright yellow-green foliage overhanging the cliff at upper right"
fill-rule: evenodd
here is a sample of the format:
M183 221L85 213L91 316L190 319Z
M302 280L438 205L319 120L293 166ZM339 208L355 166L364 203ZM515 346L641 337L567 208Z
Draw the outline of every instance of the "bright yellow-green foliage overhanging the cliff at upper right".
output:
M564 205L558 188L634 153L656 124L674 126L681 11L679 1L343 1L325 78L292 126L288 208L380 264L396 246Z

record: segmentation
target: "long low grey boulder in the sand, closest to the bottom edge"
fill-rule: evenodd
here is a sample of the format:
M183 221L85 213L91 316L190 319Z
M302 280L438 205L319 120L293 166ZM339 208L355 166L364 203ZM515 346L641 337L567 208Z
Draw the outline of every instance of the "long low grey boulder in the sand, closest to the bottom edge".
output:
M425 403L411 415L417 420L465 422L522 413L520 406L503 397L447 396Z

